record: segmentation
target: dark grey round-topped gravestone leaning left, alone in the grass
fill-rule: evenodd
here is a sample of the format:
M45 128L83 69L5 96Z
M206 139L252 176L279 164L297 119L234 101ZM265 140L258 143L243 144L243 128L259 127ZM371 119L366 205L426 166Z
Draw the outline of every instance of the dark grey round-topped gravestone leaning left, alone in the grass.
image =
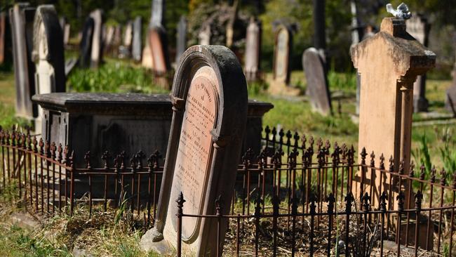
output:
M325 61L321 53L316 48L307 48L302 54L302 67L306 74L307 93L312 108L323 115L332 114Z

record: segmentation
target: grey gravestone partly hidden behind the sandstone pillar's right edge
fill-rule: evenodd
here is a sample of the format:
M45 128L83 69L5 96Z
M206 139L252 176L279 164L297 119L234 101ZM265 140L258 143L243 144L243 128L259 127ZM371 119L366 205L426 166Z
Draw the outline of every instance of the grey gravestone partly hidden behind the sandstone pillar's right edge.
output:
M431 25L422 15L413 15L407 20L407 32L423 46L427 46ZM413 108L415 112L427 112L429 102L426 99L426 74L417 77L413 84Z

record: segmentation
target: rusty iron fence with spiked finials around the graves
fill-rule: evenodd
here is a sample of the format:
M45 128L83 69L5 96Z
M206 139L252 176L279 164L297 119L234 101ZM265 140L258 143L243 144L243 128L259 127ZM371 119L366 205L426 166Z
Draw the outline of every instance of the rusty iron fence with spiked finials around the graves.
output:
M377 165L374 153L356 157L353 147L268 127L262 144L260 154L243 154L233 199L220 196L213 213L182 213L185 195L177 201L179 224L216 220L220 255L452 256L454 172L415 171L413 164L405 170L383 156ZM96 204L129 209L145 228L154 224L163 173L158 152L105 152L102 167L92 167L87 152L86 165L75 167L69 147L18 131L0 131L0 148L0 188L18 187L22 204L36 213L72 215L82 204L90 215ZM231 201L230 209L220 209L220 201Z

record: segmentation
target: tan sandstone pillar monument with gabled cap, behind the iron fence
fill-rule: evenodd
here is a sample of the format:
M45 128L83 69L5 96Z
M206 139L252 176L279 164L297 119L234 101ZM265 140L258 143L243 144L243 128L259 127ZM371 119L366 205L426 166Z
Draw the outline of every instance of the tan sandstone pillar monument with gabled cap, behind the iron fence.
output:
M405 20L384 18L380 32L351 47L361 77L358 152L363 147L394 158L394 169L410 164L413 83L435 66L436 55L406 32ZM359 175L359 174L358 174ZM370 178L367 178L370 179ZM380 185L380 176L377 176ZM361 189L363 190L363 189ZM366 191L365 191L366 192ZM379 197L379 189L373 190Z

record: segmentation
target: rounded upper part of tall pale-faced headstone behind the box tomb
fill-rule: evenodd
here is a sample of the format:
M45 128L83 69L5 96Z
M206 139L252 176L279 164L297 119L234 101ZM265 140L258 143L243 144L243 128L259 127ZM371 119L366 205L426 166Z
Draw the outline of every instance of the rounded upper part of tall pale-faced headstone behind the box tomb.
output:
M43 49L40 51L41 25L44 26L44 36L46 37ZM60 27L59 18L55 8L51 4L41 5L36 8L33 25L33 53L32 59L37 62L39 59L48 60L51 65L62 60L64 53L63 33ZM41 56L40 55L44 55Z

